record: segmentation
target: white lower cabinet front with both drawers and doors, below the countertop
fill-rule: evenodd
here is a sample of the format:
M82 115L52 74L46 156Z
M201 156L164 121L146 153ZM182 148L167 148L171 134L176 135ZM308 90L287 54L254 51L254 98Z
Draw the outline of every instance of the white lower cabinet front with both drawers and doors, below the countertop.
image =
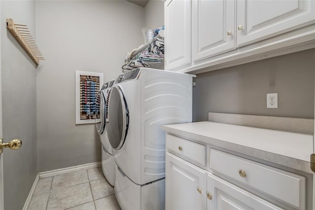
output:
M305 210L305 177L188 142L166 134L166 210ZM206 164L189 156L202 147Z

